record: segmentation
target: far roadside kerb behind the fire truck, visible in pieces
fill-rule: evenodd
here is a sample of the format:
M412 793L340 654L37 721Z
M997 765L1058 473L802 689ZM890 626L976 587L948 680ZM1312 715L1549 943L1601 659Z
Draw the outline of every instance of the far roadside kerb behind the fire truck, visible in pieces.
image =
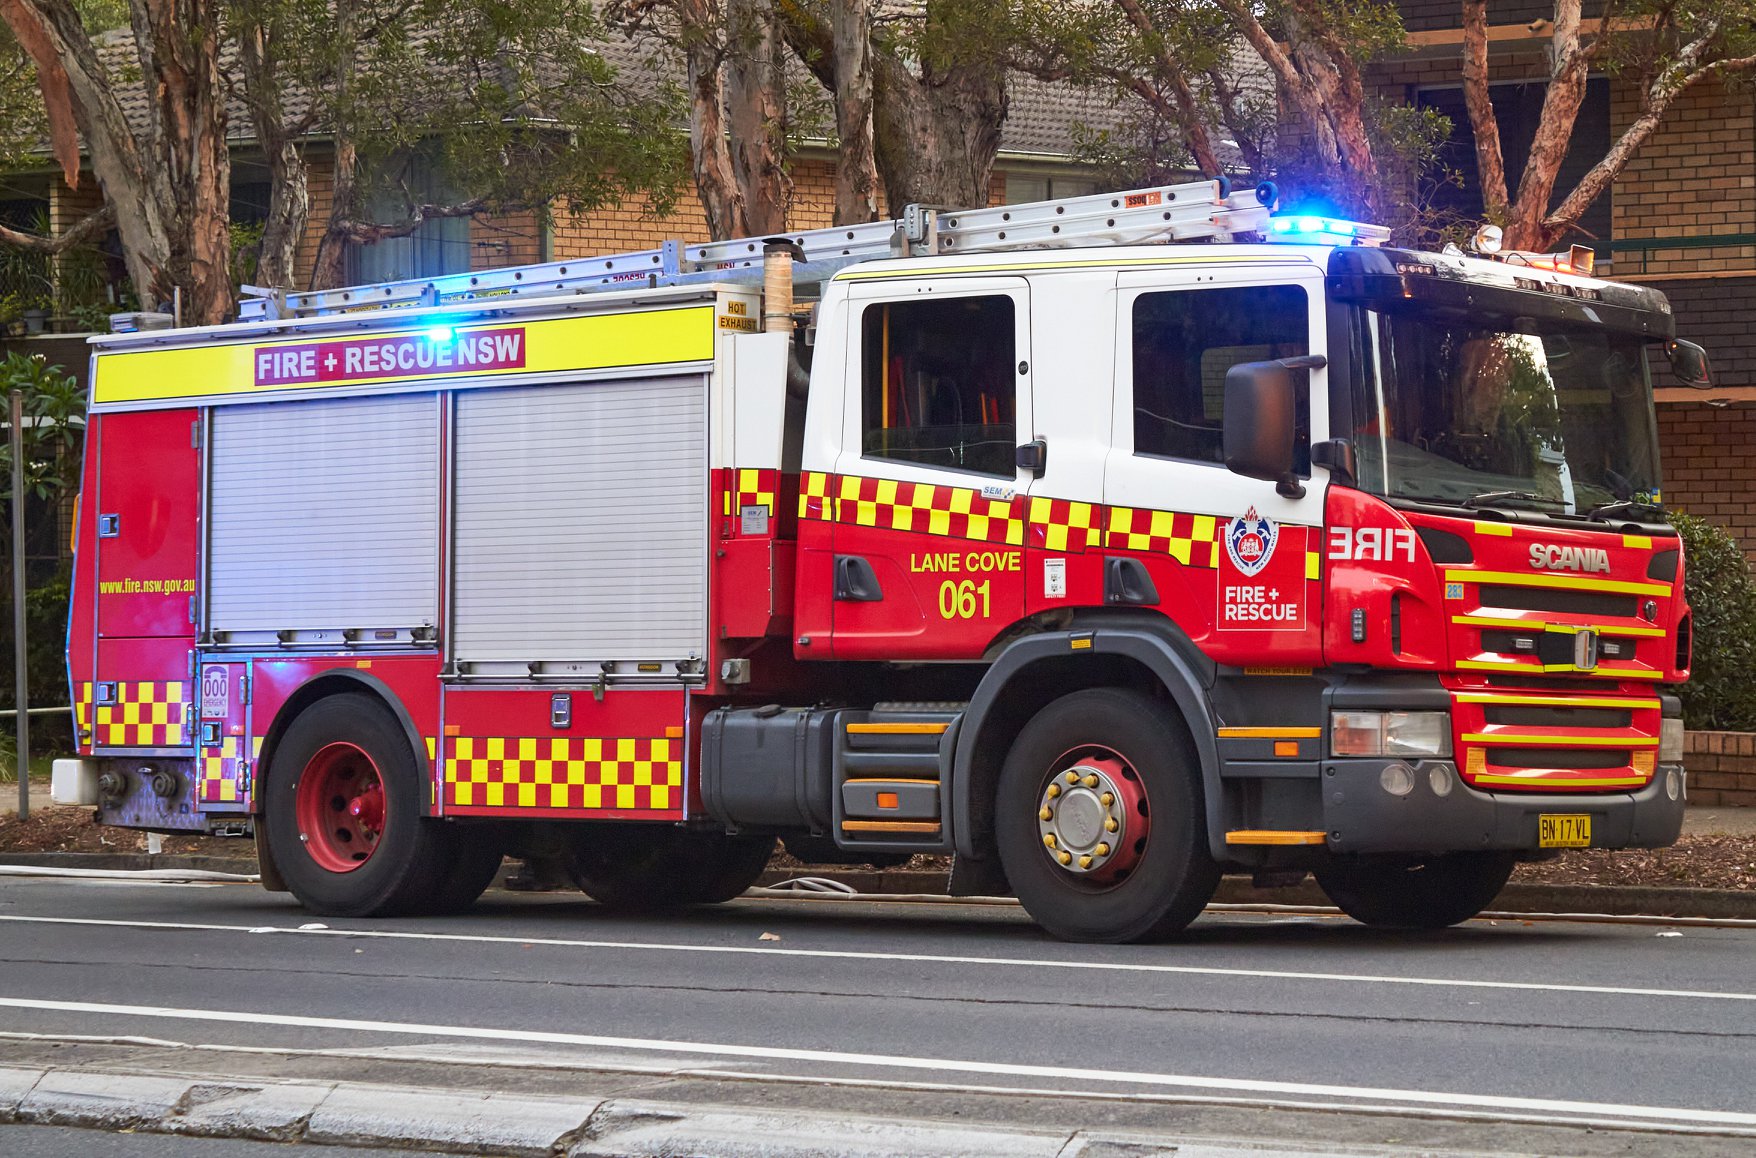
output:
M256 872L255 858L149 856L144 852L12 852L0 854L0 865L111 872L193 870L235 875L253 875ZM504 875L506 870L502 870L502 879ZM757 880L757 886L771 887L795 877L836 880L867 896L945 896L946 882L943 872L799 868L794 872L767 872ZM1213 901L1219 905L1329 907L1329 898L1312 880L1285 889L1257 889L1243 877L1226 877L1219 886L1219 893L1213 894ZM1654 889L1637 886L1512 882L1489 908L1512 914L1605 914L1756 921L1756 893L1742 889Z

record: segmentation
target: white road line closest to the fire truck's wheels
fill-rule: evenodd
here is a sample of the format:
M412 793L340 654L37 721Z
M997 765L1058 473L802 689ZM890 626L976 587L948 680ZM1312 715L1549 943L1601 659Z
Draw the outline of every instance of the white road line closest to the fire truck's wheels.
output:
M1222 968L1217 965L1148 965L1141 961L1054 961L1043 958L976 958L941 952L869 952L857 949L776 949L773 945L688 945L639 940L583 940L564 937L490 937L485 933L409 933L397 930L300 930L274 924L205 924L197 921L114 921L100 917L32 917L0 914L19 924L74 924L126 930L195 933L283 933L290 937L362 937L374 940L437 940L474 945L544 945L550 949L618 949L630 952L706 952L778 958L829 958L839 961L910 961L922 965L975 965L987 968L1066 968L1115 973L1180 973L1194 977L1249 977L1268 981L1329 981L1338 984L1429 986L1438 989L1515 989L1522 993L1589 993L1598 996L1689 998L1709 1002L1756 1002L1756 993L1716 989L1642 989L1637 986L1580 986L1545 981L1484 981L1477 977L1396 977L1387 973L1319 973L1308 970Z

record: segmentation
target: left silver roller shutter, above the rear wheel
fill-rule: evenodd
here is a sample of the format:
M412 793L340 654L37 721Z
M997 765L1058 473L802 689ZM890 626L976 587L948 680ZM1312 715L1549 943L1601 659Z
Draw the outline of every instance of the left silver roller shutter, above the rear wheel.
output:
M374 641L435 626L439 427L432 394L214 408L212 631Z

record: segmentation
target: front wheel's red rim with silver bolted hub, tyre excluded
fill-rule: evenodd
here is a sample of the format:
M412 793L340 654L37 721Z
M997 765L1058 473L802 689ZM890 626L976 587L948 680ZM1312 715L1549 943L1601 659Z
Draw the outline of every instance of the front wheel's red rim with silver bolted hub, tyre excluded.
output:
M1036 807L1043 850L1083 880L1120 880L1140 863L1152 828L1138 773L1105 749L1073 752L1057 764Z

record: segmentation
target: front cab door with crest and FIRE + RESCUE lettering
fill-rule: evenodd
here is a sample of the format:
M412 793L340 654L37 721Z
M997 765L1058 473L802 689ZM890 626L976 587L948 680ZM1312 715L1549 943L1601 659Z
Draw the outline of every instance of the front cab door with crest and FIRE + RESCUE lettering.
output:
M1122 274L1105 550L1140 561L1159 606L1220 662L1321 662L1328 371L1299 371L1292 487L1226 469L1226 371L1328 350L1321 271L1263 264Z

